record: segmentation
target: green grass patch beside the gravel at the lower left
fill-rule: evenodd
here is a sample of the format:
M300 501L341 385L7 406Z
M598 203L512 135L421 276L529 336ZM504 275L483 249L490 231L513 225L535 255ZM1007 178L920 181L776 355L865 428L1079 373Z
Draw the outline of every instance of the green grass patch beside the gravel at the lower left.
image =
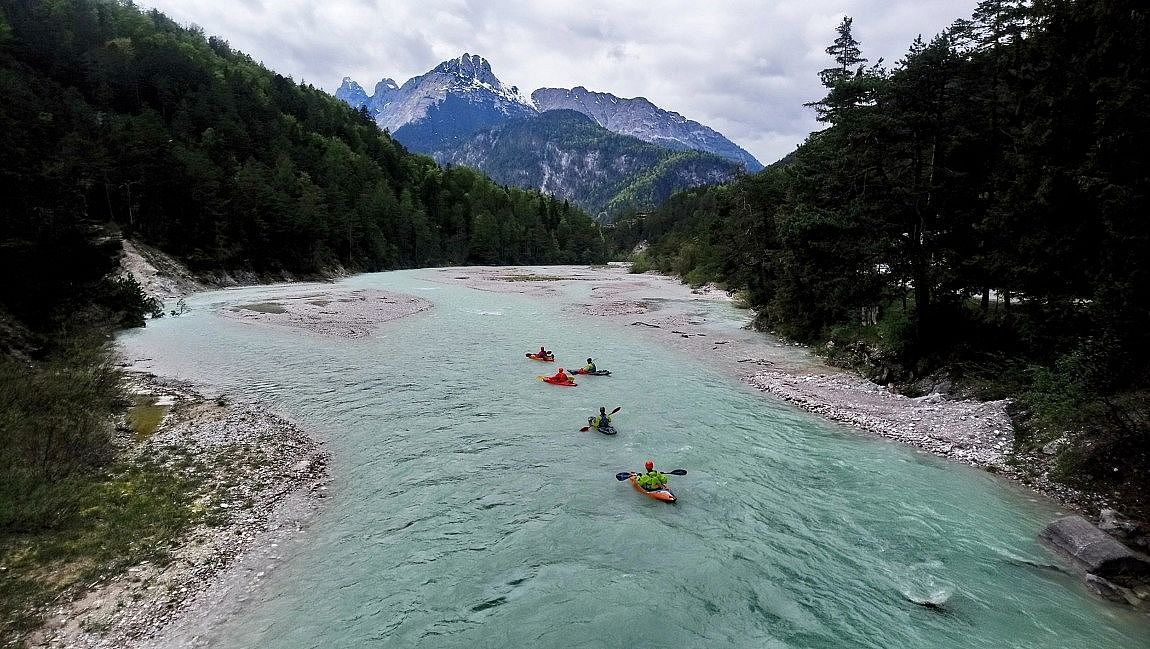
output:
M47 527L0 530L0 647L21 646L69 591L143 560L162 565L179 536L214 516L198 502L202 474L147 458L49 483L6 476L0 506L18 499L57 513Z

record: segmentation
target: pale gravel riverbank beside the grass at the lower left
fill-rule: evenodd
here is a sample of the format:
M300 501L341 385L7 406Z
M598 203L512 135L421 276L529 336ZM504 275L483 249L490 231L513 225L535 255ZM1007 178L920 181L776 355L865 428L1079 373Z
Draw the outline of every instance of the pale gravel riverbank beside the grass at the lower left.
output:
M290 553L327 495L323 442L261 404L143 373L129 374L129 390L162 419L143 437L121 426L118 461L194 474L199 488L186 496L197 522L143 548L150 559L85 566L94 579L63 590L26 647L198 646L197 629L225 618Z

